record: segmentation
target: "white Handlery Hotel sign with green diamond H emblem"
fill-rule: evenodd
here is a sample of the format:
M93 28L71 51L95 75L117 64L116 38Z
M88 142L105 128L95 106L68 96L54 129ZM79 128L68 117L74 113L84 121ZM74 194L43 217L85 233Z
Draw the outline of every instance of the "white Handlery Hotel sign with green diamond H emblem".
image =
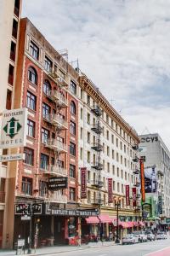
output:
M26 146L27 108L3 112L0 148Z

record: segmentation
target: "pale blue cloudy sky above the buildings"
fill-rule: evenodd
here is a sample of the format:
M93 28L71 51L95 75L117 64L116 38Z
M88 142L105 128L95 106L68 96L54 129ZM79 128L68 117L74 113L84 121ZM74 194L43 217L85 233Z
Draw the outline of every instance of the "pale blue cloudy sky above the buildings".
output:
M26 16L133 129L170 149L170 0L23 0Z

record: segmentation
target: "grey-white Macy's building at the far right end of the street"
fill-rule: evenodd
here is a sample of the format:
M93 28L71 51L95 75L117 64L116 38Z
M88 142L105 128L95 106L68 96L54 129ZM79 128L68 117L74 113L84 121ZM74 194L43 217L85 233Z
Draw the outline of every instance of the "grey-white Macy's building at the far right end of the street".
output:
M170 153L158 133L140 135L139 155L145 157L144 167L156 167L156 193L161 196L162 213L158 217L169 218L170 216ZM147 194L146 194L147 196ZM150 194L148 194L150 196Z

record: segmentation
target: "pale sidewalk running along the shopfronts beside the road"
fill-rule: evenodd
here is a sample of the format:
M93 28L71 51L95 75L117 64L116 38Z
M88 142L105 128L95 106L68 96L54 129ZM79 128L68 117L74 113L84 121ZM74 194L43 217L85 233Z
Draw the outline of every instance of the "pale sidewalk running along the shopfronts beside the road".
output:
M114 241L104 241L103 243L101 241L98 242L89 242L87 245L82 245L80 247L74 247L74 246L56 246L56 247L42 247L38 248L37 252L34 253L34 249L32 249L31 254L27 254L27 249L26 249L26 254L18 254L18 255L45 255L45 254L50 254L50 253L67 253L71 251L77 251L77 250L86 250L88 248L96 248L96 247L110 247L110 246L115 246ZM11 256L11 255L16 255L16 251L11 250L0 250L0 256Z

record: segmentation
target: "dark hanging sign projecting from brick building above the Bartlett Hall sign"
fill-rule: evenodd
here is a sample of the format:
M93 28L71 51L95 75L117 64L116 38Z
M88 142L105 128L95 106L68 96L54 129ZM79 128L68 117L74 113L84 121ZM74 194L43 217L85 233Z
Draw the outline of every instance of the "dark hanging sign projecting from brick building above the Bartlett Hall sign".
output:
M50 177L48 179L48 189L58 190L68 187L68 177Z

